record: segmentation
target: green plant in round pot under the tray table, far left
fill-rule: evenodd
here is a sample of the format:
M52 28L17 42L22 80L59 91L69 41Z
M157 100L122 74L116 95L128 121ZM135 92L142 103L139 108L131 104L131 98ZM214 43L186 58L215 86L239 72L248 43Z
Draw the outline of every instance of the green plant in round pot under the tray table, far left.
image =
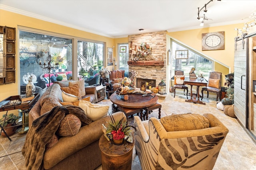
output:
M12 135L15 133L17 130L17 127L11 127L13 125L16 125L16 120L20 119L20 116L16 116L13 113L10 113L9 115L6 116L6 114L3 115L3 117L0 119L0 125L4 128L6 131L7 135ZM6 137L4 134L4 131L2 131L1 135L3 137Z

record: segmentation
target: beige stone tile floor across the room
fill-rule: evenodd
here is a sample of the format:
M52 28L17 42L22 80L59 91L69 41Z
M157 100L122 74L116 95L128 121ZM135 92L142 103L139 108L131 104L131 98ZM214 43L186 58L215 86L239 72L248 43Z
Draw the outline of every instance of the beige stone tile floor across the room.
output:
M172 113L212 113L229 129L222 149L218 155L214 170L256 170L256 144L235 118L229 117L216 108L216 98L204 98L206 105L184 102L186 96L176 92L176 98L170 93L166 98L159 98L162 104L161 117ZM98 104L111 106L110 100ZM111 107L110 107L111 110ZM157 109L149 117L158 117ZM132 121L132 118L128 120ZM25 170L24 157L20 150L26 135L12 135L12 141L0 137L0 170ZM13 154L12 154L13 153ZM10 154L9 156L5 156ZM97 170L101 170L101 166ZM132 170L141 170L138 156L133 152Z

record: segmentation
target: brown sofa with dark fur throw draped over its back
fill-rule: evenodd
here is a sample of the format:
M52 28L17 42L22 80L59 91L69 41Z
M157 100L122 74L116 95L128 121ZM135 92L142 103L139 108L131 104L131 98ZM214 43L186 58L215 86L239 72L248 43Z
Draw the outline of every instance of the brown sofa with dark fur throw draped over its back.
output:
M30 110L29 127L31 131L34 120L38 121L43 115L49 114L52 108L56 108L54 106L62 106L61 87L67 86L67 82L53 83ZM94 100L95 89L95 87L85 87L86 96L90 96ZM42 110L45 110L46 113L42 113ZM47 112L47 110L49 111ZM122 119L122 117L126 119L123 112L116 112L112 115L114 119ZM80 127L78 133L74 136L59 137L57 143L44 151L43 168L47 170L94 170L100 166L101 152L98 143L103 134L102 124L108 121L111 121L111 119L109 115L106 115L96 121L92 121L88 125Z

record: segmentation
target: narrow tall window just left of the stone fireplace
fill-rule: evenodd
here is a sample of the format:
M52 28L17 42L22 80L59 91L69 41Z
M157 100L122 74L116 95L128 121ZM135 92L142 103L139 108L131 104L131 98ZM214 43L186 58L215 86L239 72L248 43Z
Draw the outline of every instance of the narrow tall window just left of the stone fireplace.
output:
M129 48L128 44L118 44L118 54L119 54L119 68L121 70L129 71L129 66L127 61L129 60Z

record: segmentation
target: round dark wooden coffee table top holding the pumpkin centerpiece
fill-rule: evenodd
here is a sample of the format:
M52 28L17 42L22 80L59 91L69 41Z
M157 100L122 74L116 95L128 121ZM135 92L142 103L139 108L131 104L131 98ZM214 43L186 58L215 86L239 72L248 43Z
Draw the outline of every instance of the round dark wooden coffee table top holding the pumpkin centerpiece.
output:
M156 95L154 93L152 96ZM128 108L145 108L153 106L158 101L158 96L142 96L142 94L128 94L128 100L123 100L118 98L117 94L114 93L110 96L110 100L113 104L116 104L120 107L128 107Z

